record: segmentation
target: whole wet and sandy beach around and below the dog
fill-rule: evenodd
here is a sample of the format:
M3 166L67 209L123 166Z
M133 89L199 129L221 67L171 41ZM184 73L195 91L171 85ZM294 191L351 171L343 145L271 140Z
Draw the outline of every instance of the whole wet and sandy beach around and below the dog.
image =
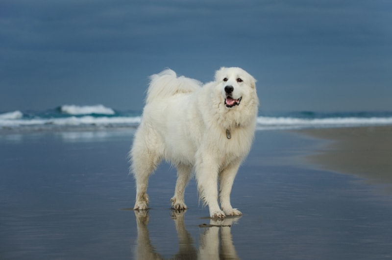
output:
M165 163L133 211L132 128L3 134L0 259L392 258L391 129L256 131L224 220Z

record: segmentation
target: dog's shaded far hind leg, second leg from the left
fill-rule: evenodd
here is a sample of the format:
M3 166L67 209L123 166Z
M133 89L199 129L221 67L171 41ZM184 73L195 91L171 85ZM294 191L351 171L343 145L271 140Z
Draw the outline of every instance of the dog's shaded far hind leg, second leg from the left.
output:
M189 180L192 178L192 166L177 165L177 182L175 184L174 196L172 197L172 209L185 210L188 209L184 202L184 192Z

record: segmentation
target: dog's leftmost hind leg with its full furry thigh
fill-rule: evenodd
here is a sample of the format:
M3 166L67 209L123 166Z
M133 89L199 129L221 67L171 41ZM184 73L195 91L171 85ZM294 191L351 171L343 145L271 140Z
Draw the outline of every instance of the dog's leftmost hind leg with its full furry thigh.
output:
M130 151L131 171L136 182L134 210L148 209L148 177L161 162L160 143L152 131L140 127L135 134Z

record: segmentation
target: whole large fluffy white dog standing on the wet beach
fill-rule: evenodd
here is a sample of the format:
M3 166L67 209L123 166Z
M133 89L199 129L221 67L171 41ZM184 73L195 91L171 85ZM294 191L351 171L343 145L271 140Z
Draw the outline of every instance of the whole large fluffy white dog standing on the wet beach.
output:
M254 138L255 82L240 68L221 68L215 81L204 86L172 70L151 76L129 154L136 181L134 210L147 210L148 177L164 159L177 168L173 209L187 208L184 191L195 171L199 196L211 217L242 214L231 206L230 192Z

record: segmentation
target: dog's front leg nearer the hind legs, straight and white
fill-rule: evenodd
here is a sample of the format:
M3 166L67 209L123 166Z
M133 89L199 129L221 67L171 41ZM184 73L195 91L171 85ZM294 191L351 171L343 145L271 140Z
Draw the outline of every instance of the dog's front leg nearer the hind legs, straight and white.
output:
M203 153L196 160L196 182L200 199L204 205L208 205L210 216L222 218L226 215L221 211L218 204L218 163L213 155Z

